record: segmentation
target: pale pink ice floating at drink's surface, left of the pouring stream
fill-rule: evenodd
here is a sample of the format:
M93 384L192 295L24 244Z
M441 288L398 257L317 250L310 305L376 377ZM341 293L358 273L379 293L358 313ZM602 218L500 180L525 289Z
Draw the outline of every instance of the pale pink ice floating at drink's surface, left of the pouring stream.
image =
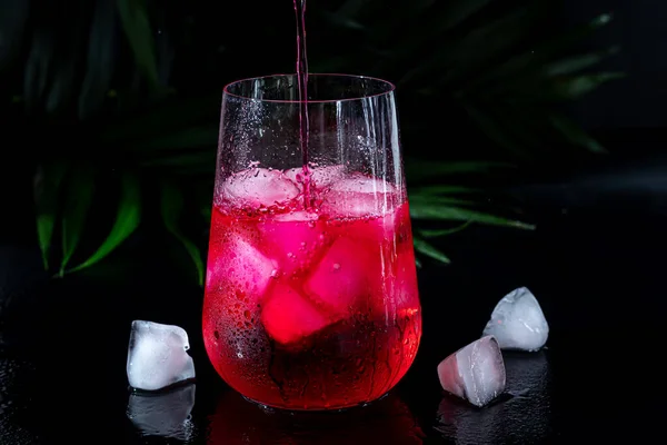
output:
M282 171L250 168L230 175L220 188L221 197L251 207L271 207L296 198L297 184Z

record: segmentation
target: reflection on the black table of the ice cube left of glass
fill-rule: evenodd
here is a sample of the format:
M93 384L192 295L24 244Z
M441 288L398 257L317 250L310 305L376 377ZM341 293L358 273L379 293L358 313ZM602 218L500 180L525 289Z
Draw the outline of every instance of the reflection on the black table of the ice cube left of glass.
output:
M195 406L195 384L190 384L166 394L130 394L128 417L145 436L189 441L193 431L190 413Z

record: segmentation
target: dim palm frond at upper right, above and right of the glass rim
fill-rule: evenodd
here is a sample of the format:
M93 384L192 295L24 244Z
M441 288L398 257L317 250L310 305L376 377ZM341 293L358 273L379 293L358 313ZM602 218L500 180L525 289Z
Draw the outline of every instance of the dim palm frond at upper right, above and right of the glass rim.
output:
M351 68L397 81L401 103L416 102L417 112L429 110L428 116L420 113L418 131L447 121L444 103L451 102L514 159L544 159L554 147L605 152L557 115L554 105L623 77L590 71L617 47L577 53L584 39L611 21L610 14L574 29L540 32L558 13L557 1L358 3L349 0L335 10L318 11L318 20L336 29L341 50L348 48L341 41L359 41L362 51L354 59L327 53L311 62L313 70Z

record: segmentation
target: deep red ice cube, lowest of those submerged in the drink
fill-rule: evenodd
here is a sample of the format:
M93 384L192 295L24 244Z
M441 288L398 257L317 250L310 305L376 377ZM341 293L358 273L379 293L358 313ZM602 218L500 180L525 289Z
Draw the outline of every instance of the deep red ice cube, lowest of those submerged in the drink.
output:
M261 323L271 338L288 345L322 329L330 322L308 298L278 284L263 305Z

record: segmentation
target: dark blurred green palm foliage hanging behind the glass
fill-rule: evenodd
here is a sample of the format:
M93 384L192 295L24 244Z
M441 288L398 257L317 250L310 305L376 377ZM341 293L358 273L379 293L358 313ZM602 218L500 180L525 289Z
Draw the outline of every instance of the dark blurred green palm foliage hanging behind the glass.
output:
M145 224L179 240L203 280L221 86L289 71L295 26L290 1L193 3L0 7L1 107L14 148L34 156L39 243L60 276L102 260ZM311 71L398 85L424 256L448 261L430 240L470 224L531 227L470 187L489 171L605 152L561 103L620 76L591 71L617 48L576 52L611 18L563 29L550 20L557 11L551 0L309 4Z

